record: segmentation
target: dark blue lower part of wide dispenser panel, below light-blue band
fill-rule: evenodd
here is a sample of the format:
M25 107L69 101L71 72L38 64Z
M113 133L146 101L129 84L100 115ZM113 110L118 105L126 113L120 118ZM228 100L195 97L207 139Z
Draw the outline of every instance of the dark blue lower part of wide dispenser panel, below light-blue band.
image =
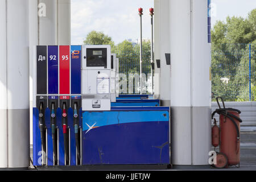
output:
M168 164L169 122L134 122L82 133L82 164Z

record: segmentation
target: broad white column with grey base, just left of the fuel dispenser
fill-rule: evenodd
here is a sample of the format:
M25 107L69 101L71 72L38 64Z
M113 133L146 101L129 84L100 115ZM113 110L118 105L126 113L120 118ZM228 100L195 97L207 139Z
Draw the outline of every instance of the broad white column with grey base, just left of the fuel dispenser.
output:
M28 0L6 1L7 167L29 166Z

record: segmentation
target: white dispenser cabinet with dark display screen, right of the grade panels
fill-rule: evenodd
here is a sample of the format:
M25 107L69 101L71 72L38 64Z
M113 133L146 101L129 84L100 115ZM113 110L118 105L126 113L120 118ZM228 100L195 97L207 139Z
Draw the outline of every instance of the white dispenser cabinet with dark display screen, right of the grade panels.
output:
M110 46L82 47L82 110L110 110Z

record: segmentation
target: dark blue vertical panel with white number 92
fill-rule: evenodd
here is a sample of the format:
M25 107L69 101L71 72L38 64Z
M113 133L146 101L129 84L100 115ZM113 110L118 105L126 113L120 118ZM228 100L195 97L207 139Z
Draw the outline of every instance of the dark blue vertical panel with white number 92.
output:
M48 94L59 93L58 46L48 46Z

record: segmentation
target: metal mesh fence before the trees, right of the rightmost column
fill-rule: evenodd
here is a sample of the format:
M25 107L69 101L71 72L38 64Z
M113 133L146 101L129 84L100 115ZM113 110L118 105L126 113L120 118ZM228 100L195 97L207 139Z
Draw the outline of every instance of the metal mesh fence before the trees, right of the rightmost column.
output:
M212 46L212 96L225 101L256 100L255 44Z

